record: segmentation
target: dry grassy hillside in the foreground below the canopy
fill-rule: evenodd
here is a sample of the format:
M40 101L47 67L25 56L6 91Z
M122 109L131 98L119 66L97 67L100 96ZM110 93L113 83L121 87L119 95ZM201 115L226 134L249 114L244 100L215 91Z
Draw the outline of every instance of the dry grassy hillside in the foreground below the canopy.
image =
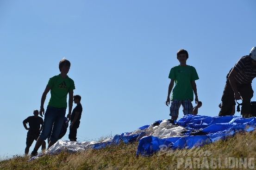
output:
M0 170L249 170L256 169L256 130L241 132L204 147L163 150L137 156L138 142L104 149L44 155L32 161L13 156L0 161Z

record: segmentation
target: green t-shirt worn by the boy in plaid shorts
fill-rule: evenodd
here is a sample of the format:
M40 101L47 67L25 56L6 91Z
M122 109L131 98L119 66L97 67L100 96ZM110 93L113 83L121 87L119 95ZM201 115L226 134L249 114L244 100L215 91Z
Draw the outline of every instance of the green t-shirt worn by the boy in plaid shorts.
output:
M169 78L175 80L171 100L194 100L191 81L198 80L199 77L193 66L175 66L171 68Z

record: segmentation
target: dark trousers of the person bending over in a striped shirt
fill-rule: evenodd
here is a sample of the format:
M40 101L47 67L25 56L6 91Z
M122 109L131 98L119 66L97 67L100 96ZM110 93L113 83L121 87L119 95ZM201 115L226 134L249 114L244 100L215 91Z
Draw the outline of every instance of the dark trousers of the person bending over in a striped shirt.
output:
M253 90L251 87L251 83L249 84L236 84L237 90L242 97L242 108L241 114L250 114L251 113L251 106L250 100L253 97ZM236 105L234 91L231 88L229 79L226 81L226 85L222 94L222 105L219 111L219 116L229 116L231 115L232 106Z

